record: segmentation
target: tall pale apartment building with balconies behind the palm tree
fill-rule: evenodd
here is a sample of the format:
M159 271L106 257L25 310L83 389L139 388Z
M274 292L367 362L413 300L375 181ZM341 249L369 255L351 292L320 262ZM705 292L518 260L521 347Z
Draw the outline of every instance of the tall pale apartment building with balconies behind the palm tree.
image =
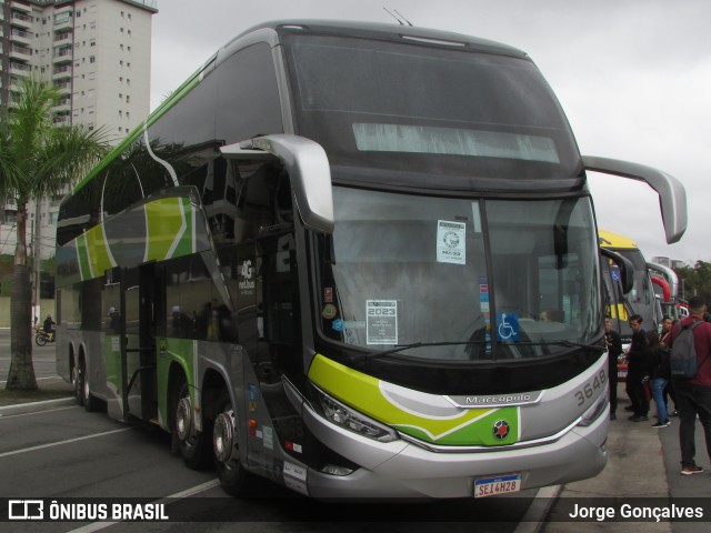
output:
M0 105L34 73L61 93L54 123L104 127L120 142L150 111L157 12L157 0L0 0ZM42 259L54 253L62 197L29 205L27 242ZM17 208L11 199L0 208L0 253L12 254Z

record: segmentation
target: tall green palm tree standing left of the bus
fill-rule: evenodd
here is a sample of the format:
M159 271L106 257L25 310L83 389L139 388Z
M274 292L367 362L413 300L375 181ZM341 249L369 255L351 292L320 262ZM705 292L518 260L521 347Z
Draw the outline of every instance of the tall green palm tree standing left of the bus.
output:
M56 194L108 151L103 129L56 127L59 92L42 80L24 80L0 122L0 198L17 203L17 248L10 304L10 372L7 389L34 390L32 310L27 257L27 204ZM39 223L39 221L38 221ZM34 250L39 253L39 249Z

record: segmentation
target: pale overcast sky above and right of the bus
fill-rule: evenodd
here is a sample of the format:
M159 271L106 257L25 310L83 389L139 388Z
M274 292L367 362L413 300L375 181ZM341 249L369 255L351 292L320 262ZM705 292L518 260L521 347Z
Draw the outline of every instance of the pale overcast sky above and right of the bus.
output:
M151 109L232 37L260 22L344 19L455 31L528 52L587 155L657 167L687 189L689 227L668 245L657 194L589 173L600 228L654 255L711 262L709 0L159 0Z

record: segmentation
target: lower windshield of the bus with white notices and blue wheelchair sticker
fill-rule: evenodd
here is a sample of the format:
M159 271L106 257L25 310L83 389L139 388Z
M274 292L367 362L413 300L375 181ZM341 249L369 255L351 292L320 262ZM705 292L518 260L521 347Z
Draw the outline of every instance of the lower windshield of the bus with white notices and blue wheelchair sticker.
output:
M326 336L413 358L534 358L599 340L588 198L472 200L334 188ZM328 295L328 296L327 296ZM432 345L444 343L444 345Z

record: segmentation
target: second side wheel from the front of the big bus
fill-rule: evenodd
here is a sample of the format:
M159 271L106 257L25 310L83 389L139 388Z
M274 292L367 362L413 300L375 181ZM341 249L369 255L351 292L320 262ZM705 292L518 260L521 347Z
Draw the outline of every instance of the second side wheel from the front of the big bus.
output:
M190 386L180 364L171 365L168 383L171 447L180 453L188 467L201 469L209 462L210 435L196 430Z

